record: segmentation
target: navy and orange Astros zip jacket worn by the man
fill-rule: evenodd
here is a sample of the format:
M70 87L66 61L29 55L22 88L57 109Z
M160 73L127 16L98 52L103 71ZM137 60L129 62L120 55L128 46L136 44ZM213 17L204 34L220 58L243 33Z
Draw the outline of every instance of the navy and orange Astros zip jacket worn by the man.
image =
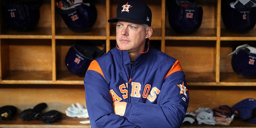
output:
M180 128L188 108L188 88L180 62L152 49L132 67L128 52L113 48L86 71L86 107L92 128ZM113 101L127 102L124 116Z

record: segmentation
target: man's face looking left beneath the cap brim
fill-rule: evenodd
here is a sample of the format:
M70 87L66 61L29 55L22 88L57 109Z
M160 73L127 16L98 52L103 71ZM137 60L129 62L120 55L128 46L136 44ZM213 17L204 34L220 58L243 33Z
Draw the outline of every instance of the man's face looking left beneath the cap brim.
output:
M116 24L116 42L120 49L129 53L144 52L146 42L145 24L136 24L118 20Z

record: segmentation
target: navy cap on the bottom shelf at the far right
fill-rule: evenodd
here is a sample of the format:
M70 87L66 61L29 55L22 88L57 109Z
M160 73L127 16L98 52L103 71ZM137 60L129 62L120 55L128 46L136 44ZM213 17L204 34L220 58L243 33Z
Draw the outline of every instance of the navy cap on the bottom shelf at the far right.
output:
M239 112L239 117L245 122L256 123L256 100L244 99L236 103L232 108Z

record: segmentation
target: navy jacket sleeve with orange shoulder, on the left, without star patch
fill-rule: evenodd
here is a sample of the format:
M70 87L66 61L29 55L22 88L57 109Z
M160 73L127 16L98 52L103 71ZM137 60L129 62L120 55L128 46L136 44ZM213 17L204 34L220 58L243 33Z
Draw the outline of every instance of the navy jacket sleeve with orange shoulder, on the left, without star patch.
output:
M139 128L124 116L114 114L109 85L96 61L92 62L86 72L84 88L92 128Z

